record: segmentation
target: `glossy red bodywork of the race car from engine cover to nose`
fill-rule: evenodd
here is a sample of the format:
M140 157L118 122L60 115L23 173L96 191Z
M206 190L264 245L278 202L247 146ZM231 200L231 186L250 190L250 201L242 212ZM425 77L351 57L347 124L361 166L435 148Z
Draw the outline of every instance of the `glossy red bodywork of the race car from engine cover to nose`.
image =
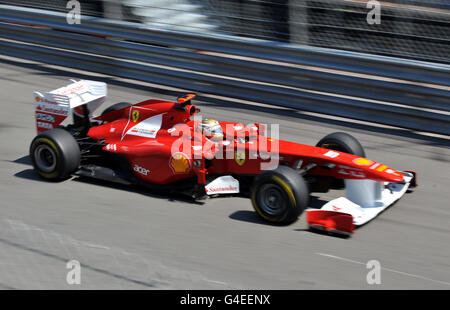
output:
M198 183L205 184L206 174L257 175L262 171L261 164L270 162L265 156L268 153L275 155L280 164L290 167L299 159L301 167L317 164L308 172L310 175L403 181L400 172L365 158L267 138L260 124L247 127L221 122L227 139L213 143L198 132L198 121L193 120L197 109L190 104L190 99L185 98L183 102L146 100L110 112L96 118L108 123L92 127L88 136L107 143L105 151L124 156L131 163L135 176L150 183L168 184L197 177ZM181 142L188 147L173 152L174 143Z

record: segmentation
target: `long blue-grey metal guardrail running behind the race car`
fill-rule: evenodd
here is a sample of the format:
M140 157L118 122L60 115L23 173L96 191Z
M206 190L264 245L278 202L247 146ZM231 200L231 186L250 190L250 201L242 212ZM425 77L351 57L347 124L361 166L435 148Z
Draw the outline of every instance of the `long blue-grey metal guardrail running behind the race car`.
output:
M63 13L3 5L0 38L0 54L450 135L444 64L93 17L69 25Z

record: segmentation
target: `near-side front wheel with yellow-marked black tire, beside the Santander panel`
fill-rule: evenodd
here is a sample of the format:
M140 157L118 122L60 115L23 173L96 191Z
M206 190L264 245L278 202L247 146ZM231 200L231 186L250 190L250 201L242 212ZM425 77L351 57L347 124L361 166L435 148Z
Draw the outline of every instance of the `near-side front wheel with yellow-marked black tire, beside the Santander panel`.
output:
M264 220L290 224L308 207L309 191L301 175L280 166L255 178L251 198L253 208Z

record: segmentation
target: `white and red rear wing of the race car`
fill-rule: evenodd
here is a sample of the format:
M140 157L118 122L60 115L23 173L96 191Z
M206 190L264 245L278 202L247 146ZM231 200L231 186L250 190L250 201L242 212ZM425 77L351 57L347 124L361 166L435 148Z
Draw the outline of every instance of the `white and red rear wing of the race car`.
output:
M87 106L90 117L91 113L105 102L106 83L89 80L71 80L71 82L67 86L44 94L34 92L38 133L58 127L69 116L71 110L75 109L74 112L80 110L83 105Z

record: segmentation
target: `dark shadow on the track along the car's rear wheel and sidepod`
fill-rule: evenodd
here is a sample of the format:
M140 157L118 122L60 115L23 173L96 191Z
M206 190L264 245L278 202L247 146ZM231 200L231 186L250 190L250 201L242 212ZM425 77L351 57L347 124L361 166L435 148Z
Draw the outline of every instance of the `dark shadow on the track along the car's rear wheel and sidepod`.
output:
M13 160L12 162L24 164L27 166L32 165L30 157L28 155L18 158L16 160ZM166 193L161 193L161 191L151 190L151 189L143 188L140 186L123 185L123 184L119 184L119 183L103 181L103 180L98 180L98 179L93 179L93 178L88 178L88 177L73 177L71 179L63 180L63 181L49 181L49 180L45 180L45 179L41 178L36 173L36 171L34 171L33 168L19 171L19 172L15 173L14 176L18 177L18 178L22 178L22 179L28 179L28 180L38 181L38 182L45 182L45 183L81 182L81 183L85 183L85 184L91 184L94 186L104 186L104 187L114 188L117 190L133 192L133 193L145 195L145 196L155 198L155 199L165 199L168 201L180 201L180 202L186 202L186 203L193 204L193 205L205 204L204 201L194 200L193 198L191 198L187 195L183 195L183 194L179 194L179 193L167 193L166 194Z

